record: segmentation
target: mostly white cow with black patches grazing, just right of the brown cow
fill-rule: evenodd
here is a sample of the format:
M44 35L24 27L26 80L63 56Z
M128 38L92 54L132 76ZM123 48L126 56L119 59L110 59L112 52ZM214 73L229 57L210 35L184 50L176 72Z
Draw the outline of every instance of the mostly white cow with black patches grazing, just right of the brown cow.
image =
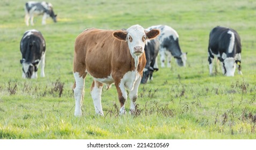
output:
M171 56L176 59L179 66L186 66L187 53L182 53L179 46L179 35L171 27L166 25L151 26L148 29L159 29L160 35L158 40L160 43L160 61L161 67L165 66L165 56L167 56L167 67L171 67Z

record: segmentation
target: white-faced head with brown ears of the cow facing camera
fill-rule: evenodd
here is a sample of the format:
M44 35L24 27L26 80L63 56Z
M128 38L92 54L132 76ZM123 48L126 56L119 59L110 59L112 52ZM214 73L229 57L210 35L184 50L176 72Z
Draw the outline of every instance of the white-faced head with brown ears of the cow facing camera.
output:
M159 35L158 29L151 29L145 32L145 29L140 25L129 27L126 31L116 31L113 36L116 39L127 41L131 56L133 58L140 57L144 53L146 39L153 39Z

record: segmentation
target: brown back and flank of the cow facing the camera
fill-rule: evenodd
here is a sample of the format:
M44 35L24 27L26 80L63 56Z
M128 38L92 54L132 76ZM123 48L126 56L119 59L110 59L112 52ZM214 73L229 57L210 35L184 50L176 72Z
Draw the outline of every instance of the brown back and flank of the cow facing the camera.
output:
M131 59L127 42L115 39L113 32L91 28L79 34L75 42L74 61L81 65L74 65L74 71L83 73L86 70L94 78L106 78L113 69L120 69L121 64ZM82 64L85 68L81 68Z

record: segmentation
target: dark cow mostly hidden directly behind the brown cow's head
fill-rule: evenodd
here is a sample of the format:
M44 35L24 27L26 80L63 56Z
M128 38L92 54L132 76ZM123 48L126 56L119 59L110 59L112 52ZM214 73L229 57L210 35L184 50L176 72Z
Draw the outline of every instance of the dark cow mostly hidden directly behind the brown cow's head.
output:
M145 84L149 80L152 80L152 74L154 71L158 71L157 65L157 54L159 51L159 41L158 39L147 40L145 44L145 55L147 59L147 63L145 68L143 69L143 77L141 79L141 83Z

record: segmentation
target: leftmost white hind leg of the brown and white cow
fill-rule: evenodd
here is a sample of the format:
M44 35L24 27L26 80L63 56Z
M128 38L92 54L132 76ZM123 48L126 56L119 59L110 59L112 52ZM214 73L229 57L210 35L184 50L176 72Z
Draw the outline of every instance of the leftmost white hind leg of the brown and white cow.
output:
M84 94L84 78L79 77L78 72L74 72L75 77L75 85L74 89L74 96L75 96L75 116L82 116L82 102L83 102L83 94Z

